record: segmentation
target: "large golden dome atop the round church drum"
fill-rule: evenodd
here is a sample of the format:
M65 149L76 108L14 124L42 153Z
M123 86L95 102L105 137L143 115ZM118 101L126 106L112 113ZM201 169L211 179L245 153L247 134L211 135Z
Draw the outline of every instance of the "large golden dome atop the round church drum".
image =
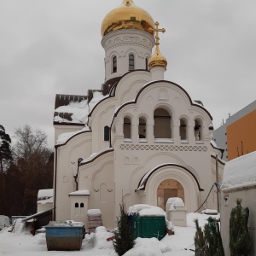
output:
M153 18L145 10L137 7L133 0L123 0L123 3L113 9L102 21L102 37L119 29L138 29L154 35L149 28L154 27Z

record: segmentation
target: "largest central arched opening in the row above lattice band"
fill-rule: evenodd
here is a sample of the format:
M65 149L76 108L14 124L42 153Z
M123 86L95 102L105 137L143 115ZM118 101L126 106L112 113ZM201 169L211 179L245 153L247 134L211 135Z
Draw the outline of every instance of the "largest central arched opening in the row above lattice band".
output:
M154 110L154 138L172 138L172 116L165 108Z

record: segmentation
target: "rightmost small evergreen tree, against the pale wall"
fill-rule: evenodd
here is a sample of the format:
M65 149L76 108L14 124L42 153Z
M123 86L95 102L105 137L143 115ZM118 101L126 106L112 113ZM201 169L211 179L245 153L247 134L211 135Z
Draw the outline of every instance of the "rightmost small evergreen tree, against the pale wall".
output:
M247 256L250 254L251 239L247 228L248 207L241 207L241 199L236 200L236 207L230 213L230 254Z

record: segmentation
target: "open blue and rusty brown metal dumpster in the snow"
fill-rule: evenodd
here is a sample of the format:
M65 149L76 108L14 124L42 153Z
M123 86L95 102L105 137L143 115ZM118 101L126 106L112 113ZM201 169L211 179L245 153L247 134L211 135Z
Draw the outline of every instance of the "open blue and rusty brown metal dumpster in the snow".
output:
M82 247L85 234L83 223L50 222L45 230L48 251L74 251Z

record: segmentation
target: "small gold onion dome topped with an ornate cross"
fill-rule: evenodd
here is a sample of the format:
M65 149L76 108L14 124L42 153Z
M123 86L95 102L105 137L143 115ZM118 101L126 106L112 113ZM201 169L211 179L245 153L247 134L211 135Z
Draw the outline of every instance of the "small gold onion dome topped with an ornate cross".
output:
M164 29L164 28L159 29L158 26L159 26L159 23L156 21L155 22L155 28L150 29L150 30L153 30L154 32L156 32L156 35L155 35L154 55L152 55L151 58L148 61L149 69L151 69L152 67L165 67L165 68L167 67L166 58L163 55L161 55L161 53L160 53L160 49L159 49L160 38L159 38L159 34L158 34L158 32L163 32L163 33L166 32L166 29Z

